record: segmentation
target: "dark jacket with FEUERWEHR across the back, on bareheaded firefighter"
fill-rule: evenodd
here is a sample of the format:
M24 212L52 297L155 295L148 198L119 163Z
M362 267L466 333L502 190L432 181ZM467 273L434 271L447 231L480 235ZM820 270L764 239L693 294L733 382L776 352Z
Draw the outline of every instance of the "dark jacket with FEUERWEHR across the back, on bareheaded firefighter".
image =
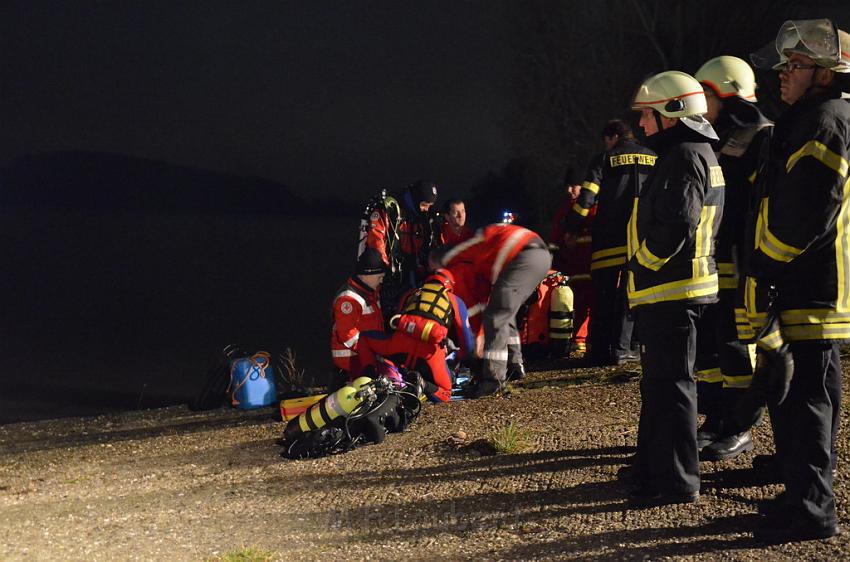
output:
M593 254L590 270L623 267L626 263L626 225L632 199L655 165L655 153L634 139L620 139L597 156L581 185L575 206L566 218L566 230L577 234L593 205Z

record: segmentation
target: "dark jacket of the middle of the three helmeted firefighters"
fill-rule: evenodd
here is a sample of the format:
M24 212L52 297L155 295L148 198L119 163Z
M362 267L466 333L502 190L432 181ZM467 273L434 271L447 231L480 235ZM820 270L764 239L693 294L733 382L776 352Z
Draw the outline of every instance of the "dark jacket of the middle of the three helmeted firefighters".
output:
M726 105L733 103L733 108L727 112ZM735 113L734 118L731 111ZM772 126L756 106L737 99L724 102L724 111L715 126L720 135L716 145L717 161L726 181L723 219L717 230L714 256L721 291L738 289L740 271L736 264L743 260L747 209L753 196L759 157L769 139L768 128Z

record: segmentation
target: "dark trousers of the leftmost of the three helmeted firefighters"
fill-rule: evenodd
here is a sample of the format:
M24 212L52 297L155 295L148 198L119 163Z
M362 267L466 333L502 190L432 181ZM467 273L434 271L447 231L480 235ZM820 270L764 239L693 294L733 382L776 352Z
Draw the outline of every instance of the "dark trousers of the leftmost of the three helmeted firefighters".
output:
M699 491L694 362L704 310L673 302L636 314L643 378L635 470L643 485L660 492Z

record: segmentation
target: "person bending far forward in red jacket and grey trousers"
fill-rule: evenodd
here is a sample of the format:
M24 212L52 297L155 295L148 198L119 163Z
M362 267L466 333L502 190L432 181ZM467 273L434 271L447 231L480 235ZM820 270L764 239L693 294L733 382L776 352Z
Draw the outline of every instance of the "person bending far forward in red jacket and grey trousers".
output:
M452 272L455 293L465 302L474 306L486 303L480 319L483 368L476 382L467 387L465 397L499 392L505 385L509 361L512 368L524 373L516 315L552 265L546 244L531 230L497 223L478 229L466 242L432 252L430 263L435 269L445 267Z

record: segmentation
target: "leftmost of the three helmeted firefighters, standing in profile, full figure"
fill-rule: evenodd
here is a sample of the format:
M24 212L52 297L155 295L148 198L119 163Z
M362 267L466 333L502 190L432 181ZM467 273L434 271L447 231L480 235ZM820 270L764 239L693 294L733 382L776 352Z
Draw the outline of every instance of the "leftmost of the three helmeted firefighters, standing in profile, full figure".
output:
M641 411L632 507L699 499L697 325L717 300L714 238L723 214L717 134L705 94L684 72L644 82L633 108L654 170L635 197L627 230L627 294L641 343Z

